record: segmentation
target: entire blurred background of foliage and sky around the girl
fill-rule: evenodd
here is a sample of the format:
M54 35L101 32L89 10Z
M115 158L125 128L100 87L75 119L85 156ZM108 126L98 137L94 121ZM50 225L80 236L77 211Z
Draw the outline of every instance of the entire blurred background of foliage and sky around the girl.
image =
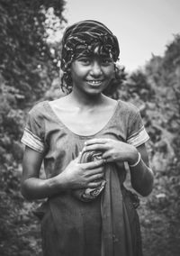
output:
M139 107L155 186L140 197L144 256L180 255L180 2L0 0L0 255L40 256L40 204L20 191L31 106L60 90L60 41L68 24L95 19L120 42L121 83L108 95Z

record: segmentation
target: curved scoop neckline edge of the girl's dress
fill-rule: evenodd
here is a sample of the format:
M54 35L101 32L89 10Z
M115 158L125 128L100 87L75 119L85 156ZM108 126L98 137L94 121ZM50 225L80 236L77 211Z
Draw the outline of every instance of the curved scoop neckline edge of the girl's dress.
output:
M94 137L95 135L99 134L99 133L102 133L103 130L106 129L106 127L108 127L109 123L112 122L112 119L114 117L114 115L116 114L117 110L118 110L118 106L119 106L119 100L117 100L117 104L115 105L114 109L113 109L113 112L112 112L112 115L111 117L108 119L108 121L103 125L103 127L96 133L94 134L88 134L88 135L82 135L82 134L78 134L78 133L75 133L73 132L70 128L67 127L67 124L63 123L60 118L58 117L58 115L55 113L55 111L52 109L51 105L49 105L49 101L45 101L45 106L47 107L47 109L49 110L50 114L53 115L53 117L55 117L55 121L57 123L60 123L66 130L68 133L71 133L73 134L74 136L76 137L79 137L79 138L92 138Z

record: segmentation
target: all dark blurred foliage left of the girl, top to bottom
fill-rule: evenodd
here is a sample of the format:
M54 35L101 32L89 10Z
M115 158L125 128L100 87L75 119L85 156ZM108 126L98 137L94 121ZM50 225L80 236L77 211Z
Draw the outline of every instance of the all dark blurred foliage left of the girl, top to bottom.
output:
M47 22L61 29L63 0L0 0L0 255L40 255L33 204L21 195L23 134L27 109L58 77L59 43L49 43ZM30 233L31 235L30 235Z

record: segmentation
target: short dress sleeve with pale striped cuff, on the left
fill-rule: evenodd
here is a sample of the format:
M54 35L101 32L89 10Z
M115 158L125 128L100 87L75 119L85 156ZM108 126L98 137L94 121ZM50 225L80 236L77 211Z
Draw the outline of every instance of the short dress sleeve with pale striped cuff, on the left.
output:
M28 113L21 142L34 151L39 151L40 153L45 151L44 119L42 114L35 108L32 108Z

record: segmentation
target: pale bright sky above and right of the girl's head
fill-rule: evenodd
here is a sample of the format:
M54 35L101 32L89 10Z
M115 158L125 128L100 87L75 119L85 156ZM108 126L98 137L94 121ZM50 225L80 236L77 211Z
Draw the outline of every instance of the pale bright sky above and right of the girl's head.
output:
M67 24L86 19L104 23L118 38L121 65L132 71L151 55L163 55L180 33L180 0L67 0Z

